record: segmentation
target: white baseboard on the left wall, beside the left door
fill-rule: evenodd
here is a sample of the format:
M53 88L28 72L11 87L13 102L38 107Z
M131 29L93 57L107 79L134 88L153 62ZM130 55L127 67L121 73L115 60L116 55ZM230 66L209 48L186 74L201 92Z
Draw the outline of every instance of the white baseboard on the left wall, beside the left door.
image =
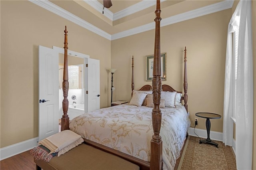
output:
M30 150L38 145L38 137L0 148L0 160Z

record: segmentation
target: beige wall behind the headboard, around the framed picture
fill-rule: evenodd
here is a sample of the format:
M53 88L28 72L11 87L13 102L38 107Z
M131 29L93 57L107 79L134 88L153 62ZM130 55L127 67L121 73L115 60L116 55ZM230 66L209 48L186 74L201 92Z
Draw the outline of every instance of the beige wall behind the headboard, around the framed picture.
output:
M188 110L192 126L197 112L223 115L225 56L231 9L161 28L161 52L167 53L167 81L183 91L184 47L187 47ZM114 100L131 99L131 58L134 55L135 89L145 81L145 56L154 53L154 30L111 42ZM223 119L211 121L211 130L222 132ZM205 119L198 118L205 129Z

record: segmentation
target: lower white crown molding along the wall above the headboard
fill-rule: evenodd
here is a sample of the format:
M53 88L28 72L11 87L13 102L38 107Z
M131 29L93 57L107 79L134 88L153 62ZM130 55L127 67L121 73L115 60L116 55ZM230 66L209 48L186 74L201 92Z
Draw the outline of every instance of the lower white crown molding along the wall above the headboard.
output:
M234 0L225 0L225 1L222 1L222 2L218 2L216 4L204 6L202 8L198 8L196 10L191 10L191 11L188 11L188 12L184 12L182 14L171 16L171 17L162 19L162 21L160 23L160 27L168 26L168 25L171 25L171 24L175 24L175 23L182 22L182 21L185 21L185 20L189 20L189 19L192 19L192 18L196 18L196 17L199 17L199 16L212 14L214 12L219 12L219 11L222 11L222 10L226 10L226 9L232 8L233 3L234 3ZM134 34L138 34L138 33L153 30L153 29L155 29L155 24L154 24L154 22L151 22L149 24L145 24L143 26L132 28L130 30L119 32L117 34L112 34L111 40L124 38L124 37L127 37L127 36L131 36L131 35L134 35Z

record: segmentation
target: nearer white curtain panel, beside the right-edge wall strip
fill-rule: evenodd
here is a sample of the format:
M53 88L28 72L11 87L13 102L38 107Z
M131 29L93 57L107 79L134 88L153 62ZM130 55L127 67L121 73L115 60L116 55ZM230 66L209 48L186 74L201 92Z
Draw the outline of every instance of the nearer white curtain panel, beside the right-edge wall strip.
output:
M236 91L236 167L252 169L253 140L253 57L252 6L242 0L238 39L237 91Z

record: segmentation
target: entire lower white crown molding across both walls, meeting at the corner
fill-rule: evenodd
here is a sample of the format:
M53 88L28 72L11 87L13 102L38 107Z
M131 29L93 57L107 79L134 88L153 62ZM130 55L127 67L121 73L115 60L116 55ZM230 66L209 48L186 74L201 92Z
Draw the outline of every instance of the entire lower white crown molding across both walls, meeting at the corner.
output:
M103 30L101 30L100 28L82 20L81 18L75 16L74 14L60 8L59 6L56 6L55 4L53 4L52 2L48 1L48 0L29 0L30 2L41 6L42 8L45 8L46 10L49 10L50 12L53 12L54 14L57 14L71 22L74 22L75 24L78 24L79 26L82 26L83 28L90 30L92 32L94 32L95 34L98 34L99 36L102 36L108 40L116 40L119 38L124 38L127 36L132 36L134 34L138 34L141 32L145 32L145 31L149 31L149 30L153 30L155 28L155 23L151 22L149 24L145 24L143 26L139 26L136 28L132 28L130 30L126 30L123 32L119 32L117 34L108 34L107 32L104 32ZM98 1L97 1L98 2ZM143 2L143 1L142 1ZM192 10L192 11L188 11L188 12L184 12L182 14L178 14L175 16L171 16L169 18L165 18L162 19L162 22L160 24L160 26L168 26L170 24L175 24L178 22L182 22L185 20L189 20L192 18L196 18L199 16L204 16L207 14L212 14L214 12L219 12L222 10L226 10L229 8L232 8L234 3L234 0L224 0L222 2L218 2L212 5L208 5L208 6L204 6L202 8L198 8L196 10ZM99 3L100 4L100 3Z

